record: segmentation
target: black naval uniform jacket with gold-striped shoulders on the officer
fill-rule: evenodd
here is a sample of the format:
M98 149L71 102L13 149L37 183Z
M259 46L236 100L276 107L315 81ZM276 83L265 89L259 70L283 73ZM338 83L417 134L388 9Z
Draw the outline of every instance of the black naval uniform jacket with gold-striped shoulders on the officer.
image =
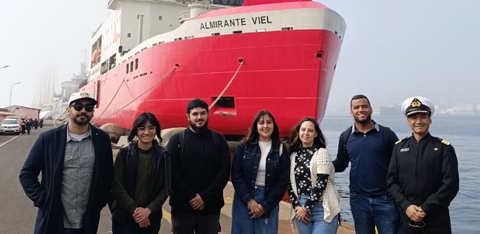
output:
M458 161L449 142L428 134L420 142L407 137L395 145L387 186L404 212L411 204L420 206L427 217L448 212L458 184Z

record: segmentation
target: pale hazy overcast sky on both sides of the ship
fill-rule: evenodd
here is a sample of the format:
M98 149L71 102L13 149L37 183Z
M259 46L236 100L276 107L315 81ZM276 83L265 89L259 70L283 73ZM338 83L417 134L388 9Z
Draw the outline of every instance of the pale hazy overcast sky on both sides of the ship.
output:
M39 81L67 81L90 58L90 36L107 0L2 1L0 107L30 106ZM326 114L348 110L354 94L372 106L422 95L435 103L480 102L479 0L326 0L347 32ZM53 72L52 72L53 71Z

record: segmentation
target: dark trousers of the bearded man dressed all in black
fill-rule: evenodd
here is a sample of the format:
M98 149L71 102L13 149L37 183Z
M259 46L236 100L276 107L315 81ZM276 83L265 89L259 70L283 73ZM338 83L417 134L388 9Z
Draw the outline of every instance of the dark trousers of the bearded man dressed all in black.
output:
M217 234L220 228L219 215L173 215L173 234Z

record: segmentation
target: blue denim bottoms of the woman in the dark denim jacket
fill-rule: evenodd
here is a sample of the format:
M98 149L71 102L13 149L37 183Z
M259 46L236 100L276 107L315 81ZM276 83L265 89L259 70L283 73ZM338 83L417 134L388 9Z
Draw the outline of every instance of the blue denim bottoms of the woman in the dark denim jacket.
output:
M262 203L265 200L265 187L256 187L254 200ZM279 233L279 205L267 213L267 217L251 219L247 204L233 195L231 234L277 234Z

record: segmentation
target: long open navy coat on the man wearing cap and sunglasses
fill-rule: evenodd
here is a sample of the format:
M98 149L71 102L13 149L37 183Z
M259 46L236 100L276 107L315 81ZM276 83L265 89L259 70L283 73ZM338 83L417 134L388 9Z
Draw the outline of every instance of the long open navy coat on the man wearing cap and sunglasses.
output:
M110 137L90 124L95 162L90 197L83 215L84 233L97 233L100 211L107 203L112 187L113 156ZM38 207L35 234L55 233L63 224L62 191L63 160L67 144L67 124L40 133L20 172L20 183L33 206ZM42 181L38 175L42 173Z

